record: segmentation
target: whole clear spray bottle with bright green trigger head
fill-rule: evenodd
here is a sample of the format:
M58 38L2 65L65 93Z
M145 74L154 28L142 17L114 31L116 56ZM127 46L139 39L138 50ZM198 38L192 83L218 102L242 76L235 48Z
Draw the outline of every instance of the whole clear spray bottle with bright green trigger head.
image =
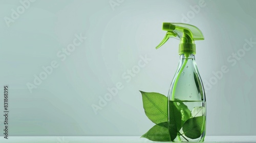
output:
M206 121L205 91L197 68L195 40L202 32L186 23L163 23L167 31L158 49L169 38L180 39L178 69L168 92L168 130L172 141L204 141Z

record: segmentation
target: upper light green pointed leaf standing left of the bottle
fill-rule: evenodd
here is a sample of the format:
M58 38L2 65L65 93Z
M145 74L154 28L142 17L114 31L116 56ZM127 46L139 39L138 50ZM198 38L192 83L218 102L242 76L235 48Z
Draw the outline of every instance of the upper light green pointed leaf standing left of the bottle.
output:
M167 97L156 92L140 92L146 116L155 124L167 122Z

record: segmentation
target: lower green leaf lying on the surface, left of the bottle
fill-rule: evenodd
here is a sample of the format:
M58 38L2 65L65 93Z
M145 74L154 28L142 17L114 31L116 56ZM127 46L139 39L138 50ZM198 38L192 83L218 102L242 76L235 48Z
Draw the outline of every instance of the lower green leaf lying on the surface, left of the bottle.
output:
M167 122L157 124L141 137L150 139L152 141L170 141L170 135L167 126Z

